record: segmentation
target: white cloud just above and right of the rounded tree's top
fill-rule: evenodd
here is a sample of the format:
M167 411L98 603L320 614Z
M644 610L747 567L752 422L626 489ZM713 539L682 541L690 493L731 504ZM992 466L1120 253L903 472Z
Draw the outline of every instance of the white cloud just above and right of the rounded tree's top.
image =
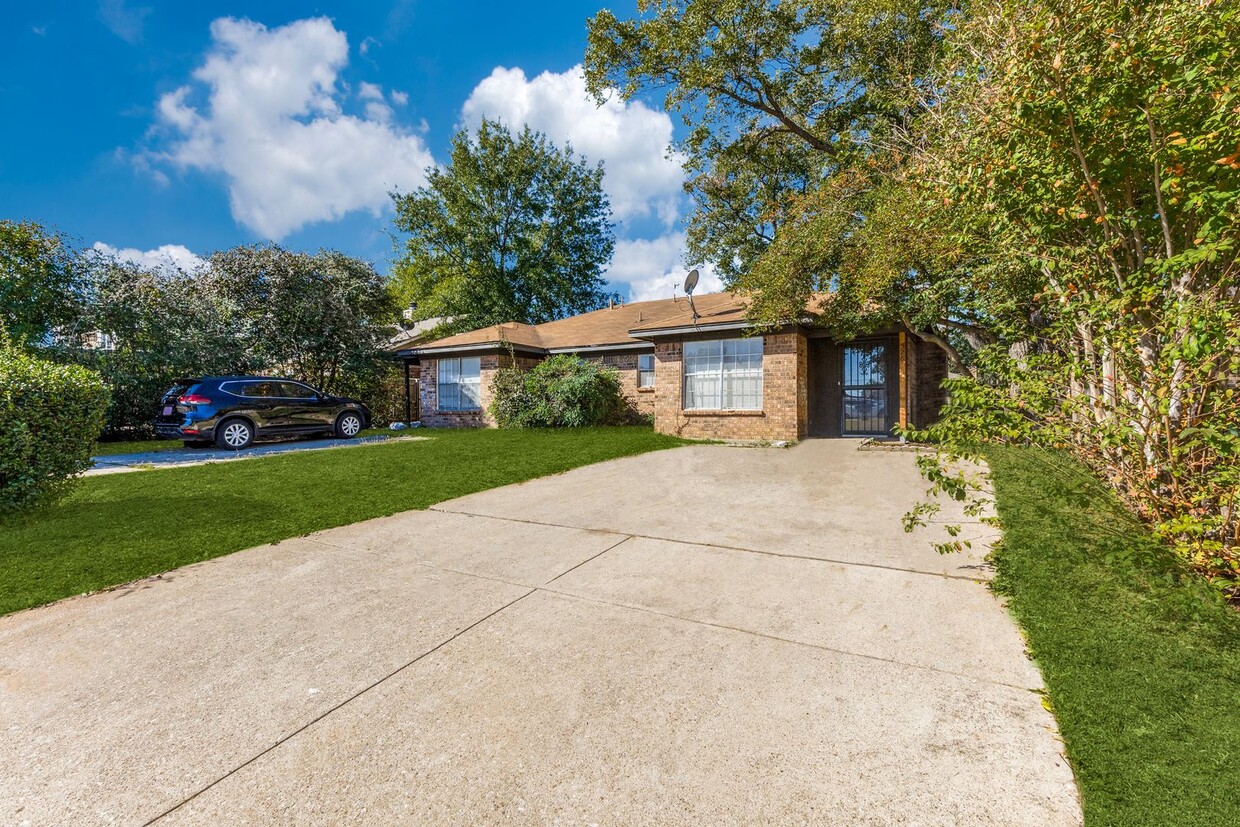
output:
M640 100L611 95L601 107L585 92L582 67L527 78L520 68L495 68L461 108L467 126L482 118L510 126L528 124L556 144L572 144L590 162L604 162L604 187L620 221L657 216L671 226L678 214L684 171L668 156L672 120Z

